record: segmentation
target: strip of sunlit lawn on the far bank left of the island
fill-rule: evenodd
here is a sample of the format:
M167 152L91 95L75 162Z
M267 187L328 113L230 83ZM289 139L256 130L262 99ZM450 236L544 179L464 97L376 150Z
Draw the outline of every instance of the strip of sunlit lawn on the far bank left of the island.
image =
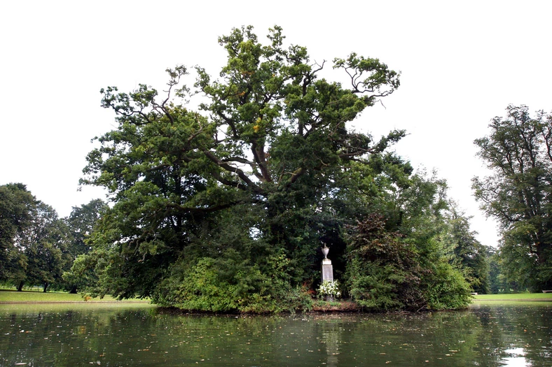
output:
M117 301L111 296L105 296L102 299L90 298L89 302L114 302ZM67 292L36 292L0 289L0 302L85 302L81 294L69 294ZM149 300L133 298L124 302L149 302Z

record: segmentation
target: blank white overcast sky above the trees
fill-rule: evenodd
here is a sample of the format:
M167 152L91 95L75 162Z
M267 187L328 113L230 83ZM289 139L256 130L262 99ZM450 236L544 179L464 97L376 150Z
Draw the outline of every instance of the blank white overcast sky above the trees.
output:
M218 36L278 24L311 59L357 52L401 71L401 87L357 129L410 134L396 151L439 171L485 245L495 222L471 196L485 175L475 138L509 103L552 110L552 1L2 1L0 185L22 182L61 217L104 198L77 192L90 139L111 129L99 89L163 89L177 64L219 72Z

